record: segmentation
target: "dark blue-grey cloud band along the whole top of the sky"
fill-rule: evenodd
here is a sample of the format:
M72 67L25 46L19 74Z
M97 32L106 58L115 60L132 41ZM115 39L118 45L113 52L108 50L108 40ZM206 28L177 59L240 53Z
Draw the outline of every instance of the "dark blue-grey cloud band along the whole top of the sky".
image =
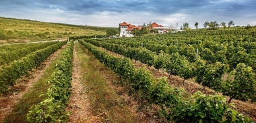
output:
M203 11L243 11L249 9L255 11L256 1L205 1L205 0L159 0L159 1L102 1L102 0L9 0L0 3L5 5L16 6L17 9L30 7L31 9L53 9L53 7L63 9L65 11L75 11L77 13L93 14L102 11L114 11L117 13L125 13L127 11L147 11L150 13L158 13L160 15L177 13L179 11L191 13ZM205 8L207 7L207 8ZM14 8L13 8L14 9Z

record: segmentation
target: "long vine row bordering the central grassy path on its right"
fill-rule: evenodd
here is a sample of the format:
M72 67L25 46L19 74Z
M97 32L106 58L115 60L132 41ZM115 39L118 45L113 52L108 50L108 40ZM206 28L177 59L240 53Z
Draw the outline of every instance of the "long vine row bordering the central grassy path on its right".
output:
M201 92L185 98L182 88L171 87L166 78L152 80L144 68L135 69L131 59L109 55L102 49L79 41L102 64L127 80L125 85L149 104L159 106L164 118L174 122L249 122L249 118L231 110L222 96L205 96Z

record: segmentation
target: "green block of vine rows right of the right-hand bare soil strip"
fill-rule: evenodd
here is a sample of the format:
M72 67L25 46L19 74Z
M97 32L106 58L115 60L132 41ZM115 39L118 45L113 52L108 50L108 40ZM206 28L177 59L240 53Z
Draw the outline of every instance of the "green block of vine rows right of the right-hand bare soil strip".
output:
M195 82L223 92L238 100L255 102L256 43L255 29L207 31L154 37L127 39L86 39L87 42L104 47L124 57L141 61L170 74L181 76L183 82L195 78ZM230 35L230 37L224 37ZM235 36L234 36L235 35ZM234 45L235 44L235 45ZM240 74L243 73L243 74ZM228 78L223 78L228 75ZM235 78L235 79L232 79Z

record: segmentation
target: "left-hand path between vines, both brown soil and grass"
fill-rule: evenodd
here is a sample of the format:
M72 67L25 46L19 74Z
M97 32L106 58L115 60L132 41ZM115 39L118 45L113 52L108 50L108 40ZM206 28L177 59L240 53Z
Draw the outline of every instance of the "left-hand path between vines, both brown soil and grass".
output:
M47 83L54 72L55 63L61 59L63 47L55 51L37 69L28 76L17 80L8 94L0 98L0 122L27 122L26 114L29 108L40 102L49 88Z

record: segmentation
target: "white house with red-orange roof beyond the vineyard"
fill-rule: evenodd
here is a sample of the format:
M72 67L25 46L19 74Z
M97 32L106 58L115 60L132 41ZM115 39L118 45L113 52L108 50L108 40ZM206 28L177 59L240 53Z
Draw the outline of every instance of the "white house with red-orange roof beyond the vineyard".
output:
M135 25L131 25L130 23L120 23L119 24L120 27L120 33L119 33L119 37L133 37L134 35L131 34L131 31L133 31L133 29L141 29L141 27L137 27Z

